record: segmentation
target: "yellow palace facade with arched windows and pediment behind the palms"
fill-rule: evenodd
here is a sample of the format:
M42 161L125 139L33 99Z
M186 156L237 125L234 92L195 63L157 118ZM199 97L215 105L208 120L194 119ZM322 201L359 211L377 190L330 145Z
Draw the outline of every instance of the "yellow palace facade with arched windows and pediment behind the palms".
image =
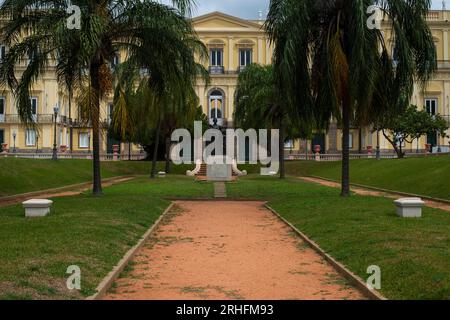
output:
M430 11L428 14L427 21L438 52L439 70L424 93L419 87L416 88L411 103L426 107L432 114L441 114L450 122L450 22L448 19L450 19L450 11ZM262 28L263 23L262 19L244 20L220 12L193 19L194 28L209 52L209 60L204 61L204 64L209 70L211 81L205 87L199 79L195 87L200 104L211 124L213 124L212 119L216 118L221 126L233 126L234 94L239 72L251 63L271 63L273 48ZM383 23L382 27L386 39L392 43L388 24ZM0 59L7 50L8 48L0 43ZM115 63L120 63L125 58L124 54L120 54ZM24 70L26 63L25 60L17 66L19 73ZM43 153L50 152L55 142L53 113L55 105L58 104L57 147L60 151L70 149L72 146L76 153L90 152L91 129L88 124L79 121L75 102L69 108L67 93L58 85L55 69L51 66L34 85L31 104L37 123L36 129L26 128L20 123L11 91L8 88L0 88L0 143L4 144L4 148L9 149L9 152L33 153L36 150ZM69 109L71 109L70 112ZM113 145L119 144L121 152L126 154L128 144L119 143L106 134L113 112L112 97L103 102L101 109L101 119L105 129L101 135L101 152L112 153ZM71 136L72 139L70 139ZM317 133L312 141L288 142L286 153L312 151L315 145L320 145L322 152L338 153L341 149L341 138L342 133L334 123L327 133ZM377 134L373 133L371 128L351 130L350 145L355 153L359 151L365 153L368 147L375 149L377 140L382 151L392 152L389 143L382 136L377 139ZM411 152L417 148L423 150L426 143L436 147L440 145L442 151L450 151L450 140L437 135L422 137L419 141L407 145L405 150ZM138 153L140 148L133 146L132 150Z

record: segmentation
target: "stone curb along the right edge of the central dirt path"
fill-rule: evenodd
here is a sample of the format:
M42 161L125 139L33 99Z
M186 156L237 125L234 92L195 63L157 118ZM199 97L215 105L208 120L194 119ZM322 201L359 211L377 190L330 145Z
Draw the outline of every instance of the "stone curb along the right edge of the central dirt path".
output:
M325 260L327 260L336 271L345 277L350 283L352 283L359 291L361 291L367 298L371 300L387 300L378 291L370 290L366 283L358 277L356 274L348 270L343 264L336 261L332 256L322 250L317 243L308 238L303 232L298 230L292 223L283 218L277 211L272 209L268 204L265 207L269 209L273 214L275 214L281 221L287 224L295 233L297 233L300 238L302 238L314 251L321 255Z

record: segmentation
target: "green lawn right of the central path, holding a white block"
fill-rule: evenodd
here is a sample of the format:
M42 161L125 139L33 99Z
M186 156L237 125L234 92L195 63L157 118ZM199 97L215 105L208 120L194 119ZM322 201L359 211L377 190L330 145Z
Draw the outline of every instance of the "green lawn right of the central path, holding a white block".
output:
M417 183L416 183L417 184ZM450 299L450 214L424 208L421 219L396 216L391 199L339 197L339 190L297 179L249 176L227 184L230 197L260 198L350 270L368 278L381 268L390 299Z

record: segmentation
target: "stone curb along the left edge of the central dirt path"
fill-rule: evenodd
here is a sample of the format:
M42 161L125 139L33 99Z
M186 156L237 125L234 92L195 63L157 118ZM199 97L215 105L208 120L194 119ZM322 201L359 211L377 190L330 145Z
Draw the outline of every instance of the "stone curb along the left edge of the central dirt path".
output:
M110 273L100 282L98 285L96 291L97 293L87 297L86 300L99 300L102 298L103 295L111 288L112 284L116 279L119 277L120 273L123 271L123 269L128 265L128 262L135 256L136 252L145 244L145 242L150 238L152 233L155 231L155 229L158 227L164 216L172 210L174 206L174 203L171 203L167 209L160 215L158 220L150 227L150 229L145 232L145 234L142 236L142 238L139 240L139 242L132 247L128 252L123 256L123 258L119 261L119 263L112 269Z

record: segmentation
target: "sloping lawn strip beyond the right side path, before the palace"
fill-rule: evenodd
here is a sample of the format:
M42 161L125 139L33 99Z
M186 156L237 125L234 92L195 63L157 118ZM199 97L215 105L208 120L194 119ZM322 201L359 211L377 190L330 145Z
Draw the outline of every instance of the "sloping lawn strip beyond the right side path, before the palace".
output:
M341 162L288 162L287 172L340 181ZM352 160L350 179L352 183L450 200L450 156Z

